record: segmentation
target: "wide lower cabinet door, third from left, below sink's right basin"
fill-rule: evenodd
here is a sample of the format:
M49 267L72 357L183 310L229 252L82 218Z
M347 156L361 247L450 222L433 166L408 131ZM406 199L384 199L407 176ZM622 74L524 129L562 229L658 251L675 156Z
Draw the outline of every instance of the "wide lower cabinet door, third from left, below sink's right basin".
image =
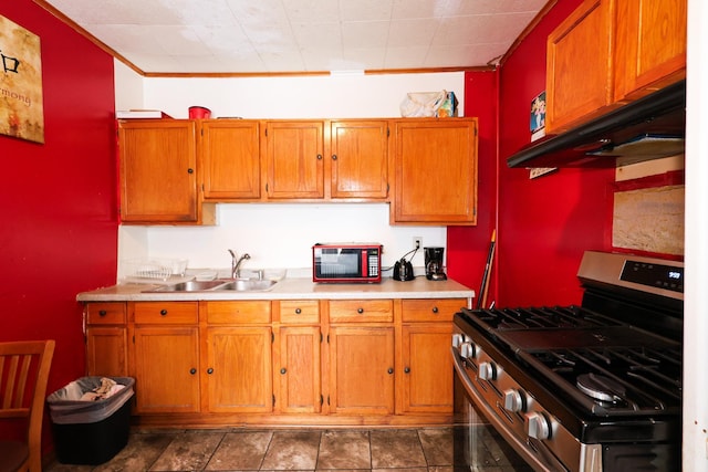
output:
M271 328L207 328L210 412L269 412L273 405Z

